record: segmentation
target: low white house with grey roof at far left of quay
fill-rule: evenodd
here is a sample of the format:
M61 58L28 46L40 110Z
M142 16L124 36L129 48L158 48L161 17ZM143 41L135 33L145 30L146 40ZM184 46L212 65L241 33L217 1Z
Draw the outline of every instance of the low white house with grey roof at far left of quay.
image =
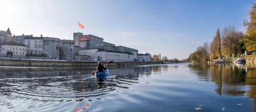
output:
M13 41L1 44L1 56L24 57L27 53L27 46Z

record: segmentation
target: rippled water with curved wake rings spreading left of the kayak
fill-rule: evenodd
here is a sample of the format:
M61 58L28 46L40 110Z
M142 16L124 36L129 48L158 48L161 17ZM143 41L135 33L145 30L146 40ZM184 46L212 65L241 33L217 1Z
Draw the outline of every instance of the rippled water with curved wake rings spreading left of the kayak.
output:
M127 85L133 85L138 82L116 78L115 76L111 76L108 80L97 81L91 75L79 75L6 78L0 80L0 83L0 107L2 106L6 110L56 111L55 108L59 106L72 104L74 107L75 105L79 107L80 104L75 102L94 101L87 98L95 98L101 101L101 98L97 97L116 91L116 87L126 89L129 88Z

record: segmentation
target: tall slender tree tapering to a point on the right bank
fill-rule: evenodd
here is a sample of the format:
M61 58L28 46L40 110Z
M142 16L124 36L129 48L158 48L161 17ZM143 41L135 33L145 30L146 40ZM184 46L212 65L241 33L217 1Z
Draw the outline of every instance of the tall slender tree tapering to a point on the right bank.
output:
M218 28L214 40L210 43L210 59L219 58L221 54L221 33Z

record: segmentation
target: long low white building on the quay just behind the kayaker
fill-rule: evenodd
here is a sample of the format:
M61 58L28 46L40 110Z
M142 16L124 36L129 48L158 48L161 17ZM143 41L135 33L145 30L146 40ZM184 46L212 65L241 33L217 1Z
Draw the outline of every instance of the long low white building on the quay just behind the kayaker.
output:
M102 59L101 61L116 61L116 62L134 61L134 54L132 53L97 51L94 54L94 61L98 61L98 57Z

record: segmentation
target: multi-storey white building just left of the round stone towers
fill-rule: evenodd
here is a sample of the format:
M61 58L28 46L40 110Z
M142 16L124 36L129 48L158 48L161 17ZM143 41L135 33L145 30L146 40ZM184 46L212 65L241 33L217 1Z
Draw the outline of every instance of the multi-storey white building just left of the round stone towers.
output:
M25 37L25 45L28 46L28 55L42 54L42 37Z

